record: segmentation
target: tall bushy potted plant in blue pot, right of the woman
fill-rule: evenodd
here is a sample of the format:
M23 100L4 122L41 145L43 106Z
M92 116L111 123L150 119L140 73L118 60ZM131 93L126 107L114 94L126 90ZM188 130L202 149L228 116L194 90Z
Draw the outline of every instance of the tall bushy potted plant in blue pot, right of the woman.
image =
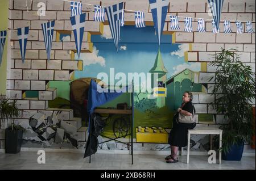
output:
M228 121L220 127L222 159L240 161L244 143L254 135L251 100L255 99L255 75L235 51L222 48L210 65L216 66L214 108Z

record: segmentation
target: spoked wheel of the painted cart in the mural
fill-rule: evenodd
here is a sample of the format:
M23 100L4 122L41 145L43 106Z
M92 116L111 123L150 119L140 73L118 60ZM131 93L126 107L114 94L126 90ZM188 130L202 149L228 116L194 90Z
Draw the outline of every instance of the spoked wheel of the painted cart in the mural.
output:
M113 133L116 138L126 137L129 131L129 124L123 117L119 117L114 120Z

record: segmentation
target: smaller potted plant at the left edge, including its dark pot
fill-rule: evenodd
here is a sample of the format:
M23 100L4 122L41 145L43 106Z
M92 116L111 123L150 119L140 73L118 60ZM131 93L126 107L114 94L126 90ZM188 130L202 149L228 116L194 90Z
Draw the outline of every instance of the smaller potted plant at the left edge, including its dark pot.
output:
M19 153L22 145L23 132L26 131L20 125L14 124L14 118L20 117L16 100L0 99L0 127L5 122L5 152Z

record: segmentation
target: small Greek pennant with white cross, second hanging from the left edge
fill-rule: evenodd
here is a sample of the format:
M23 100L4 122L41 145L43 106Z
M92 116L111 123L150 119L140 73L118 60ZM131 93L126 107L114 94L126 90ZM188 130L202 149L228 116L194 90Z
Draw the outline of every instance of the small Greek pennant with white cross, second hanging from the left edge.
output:
M18 40L20 47L20 54L22 58L22 63L24 64L26 48L27 48L27 37L30 27L18 28Z

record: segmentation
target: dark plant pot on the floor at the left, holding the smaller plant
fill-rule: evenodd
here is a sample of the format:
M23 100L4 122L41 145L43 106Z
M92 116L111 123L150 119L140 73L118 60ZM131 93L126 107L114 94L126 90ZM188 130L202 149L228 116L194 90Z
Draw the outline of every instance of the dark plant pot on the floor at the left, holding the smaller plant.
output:
M23 132L5 129L5 153L19 153L22 146Z

